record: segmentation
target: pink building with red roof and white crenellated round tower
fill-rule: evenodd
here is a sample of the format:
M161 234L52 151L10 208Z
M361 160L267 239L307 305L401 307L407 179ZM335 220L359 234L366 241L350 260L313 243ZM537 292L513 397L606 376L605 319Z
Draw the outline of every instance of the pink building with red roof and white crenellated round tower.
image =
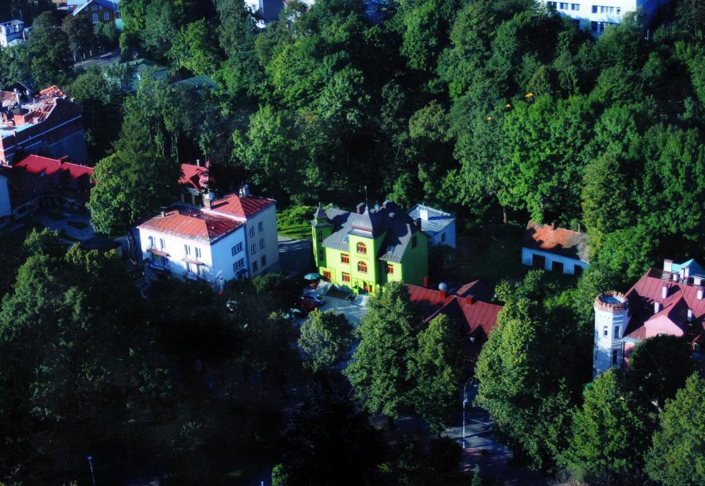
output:
M642 340L661 334L687 339L694 354L705 340L705 269L697 261L663 262L625 294L604 292L595 299L593 372L625 367Z

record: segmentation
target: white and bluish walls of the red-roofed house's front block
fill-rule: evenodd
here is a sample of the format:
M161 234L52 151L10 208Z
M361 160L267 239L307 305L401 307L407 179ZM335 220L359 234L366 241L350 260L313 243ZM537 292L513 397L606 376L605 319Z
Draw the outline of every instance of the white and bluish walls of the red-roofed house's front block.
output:
M188 244L190 247L190 255L188 255L188 257L191 259L197 259L204 263L204 265L201 266L202 268L200 268L200 275L202 275L204 280L211 283L217 283L221 277L223 280L231 280L235 278L233 263L235 263L238 259L245 257L244 249L236 256L232 256L231 254L231 248L236 244L241 242L243 243L243 248L245 247L244 226L238 227L237 230L217 240L212 245L207 242L197 241L195 239L176 237L153 230L142 229L140 230L140 246L142 247L142 258L145 259L145 261L151 261L154 259L152 254L147 251L150 247L150 236L154 237L154 247L157 249L161 249L159 239L164 239L164 251L168 253L168 257L166 257L167 265L169 270L171 270L171 275L173 277L185 278L187 263L182 260L185 256L187 256L185 253L185 244ZM196 258L196 248L201 251L201 256L199 258ZM247 264L246 261L245 264ZM196 272L195 267L195 265L190 264L191 273Z

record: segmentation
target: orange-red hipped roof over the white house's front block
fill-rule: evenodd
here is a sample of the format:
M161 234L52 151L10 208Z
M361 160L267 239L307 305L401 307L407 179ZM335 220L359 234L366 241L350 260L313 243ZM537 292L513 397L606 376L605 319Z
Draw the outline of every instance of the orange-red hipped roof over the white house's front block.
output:
M191 208L178 207L145 221L138 227L153 230L166 235L188 239L199 239L204 242L214 242L242 226L240 221L231 218L205 213Z

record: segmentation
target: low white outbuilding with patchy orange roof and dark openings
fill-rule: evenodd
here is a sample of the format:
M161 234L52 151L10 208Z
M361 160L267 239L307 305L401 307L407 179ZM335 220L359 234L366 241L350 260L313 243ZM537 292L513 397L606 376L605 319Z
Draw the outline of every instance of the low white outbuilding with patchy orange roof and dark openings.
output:
M587 235L529 221L522 242L522 263L547 271L580 275L588 266Z

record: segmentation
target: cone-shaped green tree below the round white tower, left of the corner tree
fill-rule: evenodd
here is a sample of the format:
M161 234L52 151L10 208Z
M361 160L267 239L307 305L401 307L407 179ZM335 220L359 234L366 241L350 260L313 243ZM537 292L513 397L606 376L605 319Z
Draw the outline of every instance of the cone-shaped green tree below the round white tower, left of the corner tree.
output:
M573 419L563 461L577 480L606 485L643 484L639 448L648 439L645 413L633 399L623 372L609 369L585 389Z

